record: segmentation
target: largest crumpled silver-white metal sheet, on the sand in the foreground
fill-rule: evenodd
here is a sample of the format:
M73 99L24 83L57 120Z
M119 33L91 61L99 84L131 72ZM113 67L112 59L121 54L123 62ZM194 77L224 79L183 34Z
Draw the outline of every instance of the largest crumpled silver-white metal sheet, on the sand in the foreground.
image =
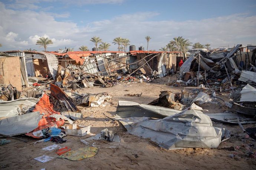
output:
M150 138L165 149L216 148L230 138L229 130L213 127L209 116L201 110L193 103L181 113L163 119L130 117L119 121L132 135Z

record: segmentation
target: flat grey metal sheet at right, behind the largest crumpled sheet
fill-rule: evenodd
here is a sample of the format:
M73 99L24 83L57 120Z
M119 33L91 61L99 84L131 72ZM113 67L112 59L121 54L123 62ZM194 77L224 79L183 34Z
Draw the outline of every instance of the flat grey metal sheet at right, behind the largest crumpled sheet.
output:
M238 124L237 118L241 124L255 124L256 118L247 118L244 115L228 112L228 113L206 113L211 120L222 123Z

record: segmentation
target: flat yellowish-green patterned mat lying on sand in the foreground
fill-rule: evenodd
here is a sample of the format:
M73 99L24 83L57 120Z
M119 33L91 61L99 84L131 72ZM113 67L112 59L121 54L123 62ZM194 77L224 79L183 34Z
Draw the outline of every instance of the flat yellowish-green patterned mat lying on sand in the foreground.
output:
M72 161L79 161L88 157L95 156L98 153L98 148L96 147L84 147L77 150L71 150L69 152L63 153L58 158L66 158Z

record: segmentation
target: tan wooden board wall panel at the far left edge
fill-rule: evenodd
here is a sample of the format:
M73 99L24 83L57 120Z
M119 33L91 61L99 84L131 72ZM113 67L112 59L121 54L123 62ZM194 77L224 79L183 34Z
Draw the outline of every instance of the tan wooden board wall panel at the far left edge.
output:
M11 84L22 90L20 57L0 57L0 84Z

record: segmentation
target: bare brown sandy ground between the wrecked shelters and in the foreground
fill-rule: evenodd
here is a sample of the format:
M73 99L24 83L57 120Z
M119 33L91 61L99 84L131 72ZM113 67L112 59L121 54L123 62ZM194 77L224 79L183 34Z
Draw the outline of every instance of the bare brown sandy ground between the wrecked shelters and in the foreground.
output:
M171 78L174 79L174 78ZM60 169L256 169L256 159L246 156L248 150L256 151L256 142L252 138L246 138L246 133L238 125L227 125L213 122L214 126L225 127L231 131L231 138L219 145L217 149L188 148L181 150L166 150L158 147L148 139L130 135L125 128L117 121L111 120L104 114L115 115L116 106L119 100L133 101L147 104L158 98L160 91L168 90L180 92L181 87L171 87L168 84L169 77L157 79L158 82L152 83L121 83L111 88L93 87L79 89L81 93L99 93L106 92L112 96L110 105L99 108L89 108L78 106L83 113L83 119L76 122L80 125L91 125L92 133L99 133L102 129L108 128L118 132L121 143L117 149L99 148L96 156L80 161L70 161L57 158L56 150L45 151L42 148L53 145L52 142L37 143L36 139L21 136L29 140L24 143L11 139L12 142L0 146L0 167L5 169L42 169L51 170ZM127 93L141 93L141 97L124 96ZM223 93L220 96L228 99L229 93ZM208 109L208 113L220 113L228 110L221 102L222 108L218 105L203 104L203 109ZM244 128L254 125L244 125ZM88 136L76 137L67 136L66 143L58 144L68 146L72 150L86 147L80 140ZM105 145L106 141L96 141L99 146ZM224 147L233 146L235 150L229 151ZM238 149L239 148L239 149ZM230 154L235 154L230 158ZM47 155L55 157L46 163L40 163L33 160L36 157Z

